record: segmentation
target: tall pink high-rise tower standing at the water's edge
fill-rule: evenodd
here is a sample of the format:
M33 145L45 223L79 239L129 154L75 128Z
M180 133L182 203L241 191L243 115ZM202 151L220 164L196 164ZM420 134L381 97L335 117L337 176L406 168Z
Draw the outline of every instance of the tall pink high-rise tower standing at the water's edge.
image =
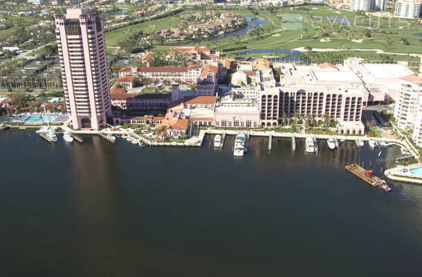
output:
M111 116L104 31L100 12L71 8L55 15L66 110L74 129L99 129Z

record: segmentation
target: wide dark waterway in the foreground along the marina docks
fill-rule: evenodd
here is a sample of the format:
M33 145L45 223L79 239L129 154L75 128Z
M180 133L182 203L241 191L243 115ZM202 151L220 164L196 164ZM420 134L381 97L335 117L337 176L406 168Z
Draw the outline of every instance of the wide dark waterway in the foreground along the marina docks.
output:
M383 193L344 169L400 150L289 139L232 157L0 133L2 276L420 276L422 186Z

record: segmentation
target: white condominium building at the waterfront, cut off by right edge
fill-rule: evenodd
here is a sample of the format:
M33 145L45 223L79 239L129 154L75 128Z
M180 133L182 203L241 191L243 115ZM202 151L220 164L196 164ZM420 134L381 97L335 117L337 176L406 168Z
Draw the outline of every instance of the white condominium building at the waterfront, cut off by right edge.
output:
M401 78L394 106L397 127L413 131L412 139L422 145L422 79L416 75Z

